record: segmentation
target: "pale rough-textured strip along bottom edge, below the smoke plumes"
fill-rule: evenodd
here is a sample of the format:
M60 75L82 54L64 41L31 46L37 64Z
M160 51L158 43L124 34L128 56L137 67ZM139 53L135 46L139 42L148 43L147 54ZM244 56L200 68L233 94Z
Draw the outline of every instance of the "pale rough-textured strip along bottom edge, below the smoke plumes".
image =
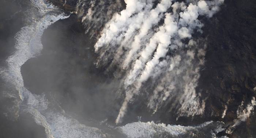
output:
M128 138L153 138L153 137L193 137L193 131L200 131L205 127L215 127L210 128L207 131L212 131L212 133L217 134L220 130L219 128L223 126L221 122L205 122L199 126L180 126L180 125L170 125L167 126L163 123L156 124L154 122L134 122L126 124L125 126L117 127L117 130L125 134ZM204 133L204 132L202 132Z

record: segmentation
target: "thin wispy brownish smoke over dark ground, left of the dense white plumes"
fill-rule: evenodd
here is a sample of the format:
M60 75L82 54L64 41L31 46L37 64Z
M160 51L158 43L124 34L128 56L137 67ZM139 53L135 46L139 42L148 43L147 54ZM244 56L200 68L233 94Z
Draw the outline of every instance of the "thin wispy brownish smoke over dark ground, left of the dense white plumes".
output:
M75 13L82 19L86 33L93 37L122 8L121 0L78 0Z

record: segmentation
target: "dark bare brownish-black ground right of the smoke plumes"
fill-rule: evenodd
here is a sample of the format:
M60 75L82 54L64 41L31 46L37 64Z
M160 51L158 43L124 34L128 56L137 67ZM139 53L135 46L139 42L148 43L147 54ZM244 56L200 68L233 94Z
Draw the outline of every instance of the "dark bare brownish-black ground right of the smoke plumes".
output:
M225 0L221 11L214 18L205 20L203 35L208 47L197 88L203 97L208 97L206 118L216 116L218 120L232 121L237 118L236 111L241 102L247 105L255 96L255 7L256 1L252 0ZM227 113L222 119L225 105ZM249 131L245 134L252 137Z

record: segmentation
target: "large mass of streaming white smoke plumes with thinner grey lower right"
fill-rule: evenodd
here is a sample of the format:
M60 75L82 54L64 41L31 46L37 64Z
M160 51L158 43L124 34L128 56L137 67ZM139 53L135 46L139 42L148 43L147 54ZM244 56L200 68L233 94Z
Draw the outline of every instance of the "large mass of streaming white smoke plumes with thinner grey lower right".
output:
M125 72L116 76L122 78L120 89L126 93L116 123L122 122L129 101L143 91L149 78L160 77L154 80L150 109L157 111L175 96L180 116L203 114L204 100L195 88L206 46L199 46L193 33L202 32L199 16L212 17L223 1L125 1L126 8L105 25L95 44L98 66Z

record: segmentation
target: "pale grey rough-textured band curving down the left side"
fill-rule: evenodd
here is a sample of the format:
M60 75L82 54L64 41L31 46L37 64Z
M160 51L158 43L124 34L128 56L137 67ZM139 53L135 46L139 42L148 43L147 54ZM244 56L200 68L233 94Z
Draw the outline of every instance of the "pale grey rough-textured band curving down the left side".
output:
M16 34L16 51L8 57L6 61L8 68L1 71L1 76L18 90L22 100L20 110L33 115L35 122L45 128L48 138L99 137L98 129L86 127L75 119L54 112L49 109L48 100L43 94L32 94L24 87L20 67L30 58L40 54L43 48L41 37L44 30L57 20L69 17L43 0L31 0L31 3L36 7L36 10L31 8L29 15L33 20L29 26L22 27Z

